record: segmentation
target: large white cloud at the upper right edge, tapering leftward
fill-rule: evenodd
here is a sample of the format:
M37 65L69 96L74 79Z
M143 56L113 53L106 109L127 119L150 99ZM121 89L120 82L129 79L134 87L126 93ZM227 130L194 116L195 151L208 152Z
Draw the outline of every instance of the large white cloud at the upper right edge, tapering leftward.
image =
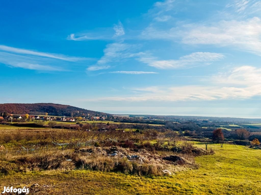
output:
M141 33L140 37L143 39L180 40L185 44L232 47L236 50L261 55L261 20L258 17L243 21L222 20L211 24L186 24L180 27L167 27L165 30L158 30L150 26Z

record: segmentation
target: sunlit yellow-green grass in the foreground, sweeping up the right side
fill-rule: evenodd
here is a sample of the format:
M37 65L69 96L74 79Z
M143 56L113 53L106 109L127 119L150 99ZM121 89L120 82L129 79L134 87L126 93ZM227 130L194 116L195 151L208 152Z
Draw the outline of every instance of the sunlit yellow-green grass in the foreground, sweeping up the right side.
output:
M204 148L202 143L194 143ZM261 194L261 150L209 144L214 155L196 157L197 170L170 177L140 177L122 173L74 170L36 171L1 176L3 186L40 186L30 194ZM42 187L42 185L49 187Z

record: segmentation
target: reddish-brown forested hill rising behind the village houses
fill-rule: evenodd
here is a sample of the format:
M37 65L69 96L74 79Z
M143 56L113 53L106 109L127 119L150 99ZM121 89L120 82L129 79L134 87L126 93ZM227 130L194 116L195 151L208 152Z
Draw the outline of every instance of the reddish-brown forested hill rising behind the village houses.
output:
M78 113L79 111L79 113ZM52 116L82 116L82 114L91 115L110 115L103 112L96 112L92 110L86 110L69 105L55 104L55 103L3 103L0 104L0 112L9 114L45 114Z

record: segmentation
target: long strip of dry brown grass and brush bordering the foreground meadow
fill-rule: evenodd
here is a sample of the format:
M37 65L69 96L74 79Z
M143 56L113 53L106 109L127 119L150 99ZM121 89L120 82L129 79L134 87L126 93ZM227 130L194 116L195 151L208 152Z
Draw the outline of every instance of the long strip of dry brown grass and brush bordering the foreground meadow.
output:
M72 161L66 161L71 159ZM127 158L109 157L101 155L82 155L72 151L52 151L48 153L29 154L14 157L10 160L19 166L25 166L29 170L63 170L75 168L103 172L122 172L137 175L162 175L163 165L154 163L131 162Z

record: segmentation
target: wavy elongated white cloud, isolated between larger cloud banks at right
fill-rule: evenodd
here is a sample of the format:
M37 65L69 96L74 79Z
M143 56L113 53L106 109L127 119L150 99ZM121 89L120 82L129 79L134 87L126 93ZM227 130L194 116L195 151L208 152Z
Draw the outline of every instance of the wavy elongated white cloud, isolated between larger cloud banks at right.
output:
M220 61L225 56L219 53L210 52L194 52L189 55L185 55L179 58L179 60L157 60L150 57L141 57L139 60L141 62L149 64L149 66L159 68L159 69L177 69L191 66L195 63L200 62L214 62Z

